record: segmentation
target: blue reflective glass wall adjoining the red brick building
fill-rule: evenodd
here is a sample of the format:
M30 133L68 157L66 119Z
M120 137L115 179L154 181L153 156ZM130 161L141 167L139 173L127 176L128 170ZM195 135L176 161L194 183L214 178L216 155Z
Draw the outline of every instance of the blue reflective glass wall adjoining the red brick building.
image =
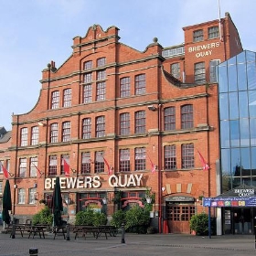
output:
M256 187L256 53L241 52L217 73L222 193Z

